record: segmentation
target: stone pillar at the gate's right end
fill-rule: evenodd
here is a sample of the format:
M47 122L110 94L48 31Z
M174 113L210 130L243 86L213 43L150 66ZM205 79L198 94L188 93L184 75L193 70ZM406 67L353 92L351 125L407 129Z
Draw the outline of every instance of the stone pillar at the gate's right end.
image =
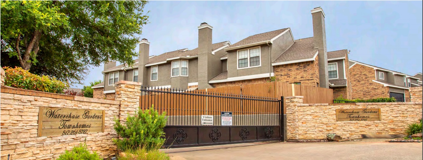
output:
M284 139L299 139L299 132L297 131L298 116L297 108L302 105L303 96L285 97L286 105L286 134Z

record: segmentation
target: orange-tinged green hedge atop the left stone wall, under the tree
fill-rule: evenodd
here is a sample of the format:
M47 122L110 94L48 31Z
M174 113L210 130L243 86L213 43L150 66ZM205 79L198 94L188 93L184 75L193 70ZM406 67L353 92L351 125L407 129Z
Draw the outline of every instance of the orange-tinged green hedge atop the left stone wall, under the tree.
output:
M54 77L50 78L46 75L32 74L29 70L21 67L11 68L5 66L3 69L5 71L5 86L59 94L62 94L63 90L69 87L67 82L63 83Z

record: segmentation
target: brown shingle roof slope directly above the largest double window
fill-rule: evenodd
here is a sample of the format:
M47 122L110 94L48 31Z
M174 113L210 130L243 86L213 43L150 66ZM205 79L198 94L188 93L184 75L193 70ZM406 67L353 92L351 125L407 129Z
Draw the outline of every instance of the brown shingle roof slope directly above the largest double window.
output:
M280 33L282 33L283 31L287 29L288 28L284 28L280 30L274 30L274 31L266 32L266 33L260 33L253 36L249 36L245 39L242 39L239 42L236 42L235 44L232 44L231 47L242 46L245 44L252 44L252 43L256 43L260 41L268 41L272 38L275 38L277 35L279 35Z

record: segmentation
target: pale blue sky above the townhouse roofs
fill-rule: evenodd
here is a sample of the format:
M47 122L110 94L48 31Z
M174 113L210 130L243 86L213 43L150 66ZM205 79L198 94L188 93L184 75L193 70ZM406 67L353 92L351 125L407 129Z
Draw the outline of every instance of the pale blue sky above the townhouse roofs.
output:
M149 23L139 36L151 43L150 55L198 47L202 22L213 27L213 43L234 44L282 28L302 39L313 36L310 10L316 7L326 16L328 52L347 49L354 61L422 72L422 1L150 1L144 8ZM103 80L103 68L90 69L84 85Z

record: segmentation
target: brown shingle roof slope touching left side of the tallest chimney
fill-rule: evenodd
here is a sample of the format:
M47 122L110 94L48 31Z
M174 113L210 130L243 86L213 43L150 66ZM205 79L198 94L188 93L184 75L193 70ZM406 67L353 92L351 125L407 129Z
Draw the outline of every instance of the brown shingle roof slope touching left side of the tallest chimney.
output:
M313 37L297 39L291 47L283 52L273 63L294 61L313 58L317 50L314 50Z

